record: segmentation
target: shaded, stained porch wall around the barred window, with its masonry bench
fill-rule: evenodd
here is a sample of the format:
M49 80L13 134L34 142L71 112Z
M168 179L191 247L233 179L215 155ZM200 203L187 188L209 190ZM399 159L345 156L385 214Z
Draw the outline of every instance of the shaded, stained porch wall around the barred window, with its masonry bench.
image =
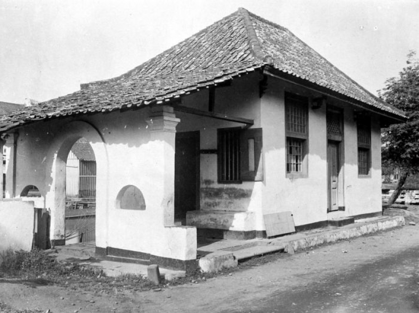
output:
M260 127L259 73L252 73L232 81L231 86L216 87L215 108L218 113L235 117L253 119L251 127ZM208 91L183 98L182 105L201 110L208 109ZM217 120L201 116L176 114L181 122L177 131L200 130L200 149L217 150L217 129L228 127L243 127L241 123ZM232 211L261 213L261 188L263 182L242 182L241 184L220 184L218 182L217 154L200 154L200 193L199 205L201 211ZM214 213L213 215L217 215ZM207 220L208 214L198 216L201 222ZM193 218L194 225L200 221ZM191 218L192 220L192 218ZM253 221L253 219L252 219ZM252 222L251 229L254 229ZM241 215L222 214L212 218L208 228L249 230L248 222Z

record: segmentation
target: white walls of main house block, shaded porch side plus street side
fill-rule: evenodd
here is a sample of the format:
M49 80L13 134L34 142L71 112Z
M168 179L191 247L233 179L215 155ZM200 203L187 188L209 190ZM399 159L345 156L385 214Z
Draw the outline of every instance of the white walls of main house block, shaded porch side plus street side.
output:
M215 111L227 113L225 107L229 106L229 114L252 118L255 120L252 127L263 128L264 181L219 184L217 155L201 154L201 213L189 214L189 221L193 222L193 225L231 231L248 231L250 228L263 231L263 214L267 213L291 211L295 225L301 226L336 217L381 211L379 117L373 115L372 119L372 174L365 178L358 177L354 107L328 97L328 105L344 109L344 138L341 143L344 164L339 174L339 206L345 207L345 211L328 213L326 106L308 110L307 177L287 178L284 102L286 91L307 97L321 96L303 87L269 77L268 88L263 97L259 98L256 74L236 83L233 81L231 86L220 88L220 91L216 90ZM194 100L190 103L205 110L207 94L198 95L190 96L189 98ZM178 128L185 131L200 128L200 148L214 150L217 149L217 128L236 126L240 125L195 117L186 123L181 122ZM202 211L208 212L204 214ZM243 215L243 212L251 214Z

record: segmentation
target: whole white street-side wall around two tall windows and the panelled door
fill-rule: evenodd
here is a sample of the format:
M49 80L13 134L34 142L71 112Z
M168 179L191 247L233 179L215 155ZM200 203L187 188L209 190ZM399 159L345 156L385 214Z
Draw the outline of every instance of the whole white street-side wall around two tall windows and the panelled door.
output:
M263 212L291 211L296 226L343 216L381 211L381 137L379 117L372 118L372 169L368 177L358 176L357 131L354 108L328 98L328 105L344 109L344 164L341 167L339 206L345 211L327 213L327 127L326 107L308 110L308 175L286 177L285 91L319 97L302 87L269 79L261 98L261 126L264 135L265 184ZM258 224L264 229L263 220Z

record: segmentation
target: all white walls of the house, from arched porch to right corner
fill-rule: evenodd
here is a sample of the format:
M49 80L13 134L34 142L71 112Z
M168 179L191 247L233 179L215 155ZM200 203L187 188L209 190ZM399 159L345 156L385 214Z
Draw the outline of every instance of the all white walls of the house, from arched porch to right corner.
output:
M222 229L263 231L265 213L291 211L295 225L300 226L331 217L381 211L378 117L372 123L372 175L359 178L353 108L328 98L330 104L345 109L344 202L340 203L345 211L328 214L326 107L308 110L308 176L286 177L284 92L320 95L269 77L268 88L259 98L258 84L259 74L252 73L233 80L231 86L217 87L215 111L253 119L252 127L263 128L264 181L219 184L217 154L201 154L199 209L215 212L203 219L224 216L227 219L219 223ZM183 97L182 105L207 110L207 90ZM218 128L243 126L180 112L176 112L176 117L181 120L176 131L200 131L200 149L204 150L217 149ZM57 181L56 177L65 171L62 161L74 142L84 137L92 146L97 163L96 245L182 260L195 258L196 230L173 227L175 134L150 132L154 122L150 108L82 116L82 119L50 120L19 130L16 194L27 185L38 187L45 197L45 207L51 208L51 230L55 232L51 234L55 239L63 238L64 214L61 216L60 212L65 208L65 199L63 205L63 200L56 195L64 192L65 182ZM8 173L11 170L8 166ZM141 190L145 210L116 208L117 195L127 185ZM7 188L7 194L11 194L12 187ZM217 215L217 211L233 214Z

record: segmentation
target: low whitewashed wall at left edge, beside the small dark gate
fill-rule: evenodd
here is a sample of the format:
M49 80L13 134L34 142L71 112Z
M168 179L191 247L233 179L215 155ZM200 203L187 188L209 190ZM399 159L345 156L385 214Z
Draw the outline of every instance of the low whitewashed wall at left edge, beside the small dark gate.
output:
M34 212L33 201L0 201L0 252L32 249Z

